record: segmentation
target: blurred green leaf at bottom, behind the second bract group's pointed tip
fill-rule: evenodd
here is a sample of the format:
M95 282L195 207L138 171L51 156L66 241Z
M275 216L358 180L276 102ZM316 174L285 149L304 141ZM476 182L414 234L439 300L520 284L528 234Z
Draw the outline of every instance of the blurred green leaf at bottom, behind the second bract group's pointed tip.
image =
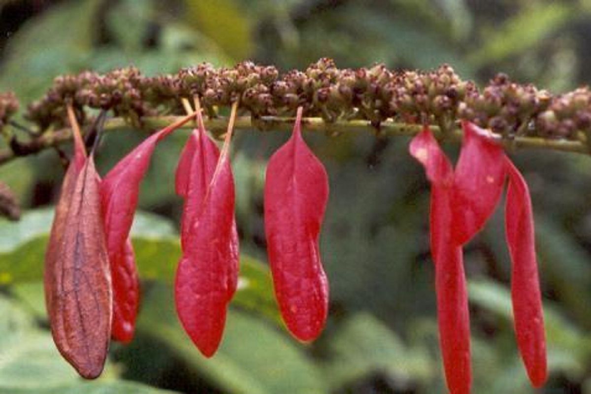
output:
M146 295L138 334L165 344L190 369L232 394L322 394L322 379L297 341L246 312L230 309L220 349L203 357L178 324L173 291L156 285Z

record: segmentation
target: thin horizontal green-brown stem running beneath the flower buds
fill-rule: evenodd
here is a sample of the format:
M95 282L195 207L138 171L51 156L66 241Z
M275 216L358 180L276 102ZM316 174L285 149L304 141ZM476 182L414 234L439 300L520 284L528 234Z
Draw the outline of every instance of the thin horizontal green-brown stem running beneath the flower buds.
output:
M153 118L142 118L145 129L162 129L171 123L180 121L184 116L157 116ZM225 132L228 126L228 118L220 116L217 118L203 119L207 129L219 135ZM250 116L239 116L236 118L234 128L236 130L259 129L261 131L291 131L294 118L278 118L276 116L263 116L258 119L252 119ZM130 125L123 118L111 118L105 121L104 131L113 131L116 129L129 128ZM181 128L194 128L193 122L186 123ZM302 129L304 131L324 132L328 135L339 135L341 133L364 133L379 132L387 136L412 136L421 131L423 126L413 123L402 123L394 121L385 121L379 125L379 131L369 121L352 120L336 121L332 123L325 122L322 118L304 118L302 119ZM431 131L436 136L441 136L439 126L431 126ZM462 132L459 128L450 132L453 139L459 140ZM48 131L38 138L29 142L18 142L18 154L12 149L0 150L0 164L11 161L20 156L34 154L43 149L63 144L72 139L72 131L69 128ZM516 137L515 139L501 139L499 143L508 149L514 148L538 148L553 149L555 151L589 153L587 146L581 141L567 141L563 139L545 139L540 137Z

